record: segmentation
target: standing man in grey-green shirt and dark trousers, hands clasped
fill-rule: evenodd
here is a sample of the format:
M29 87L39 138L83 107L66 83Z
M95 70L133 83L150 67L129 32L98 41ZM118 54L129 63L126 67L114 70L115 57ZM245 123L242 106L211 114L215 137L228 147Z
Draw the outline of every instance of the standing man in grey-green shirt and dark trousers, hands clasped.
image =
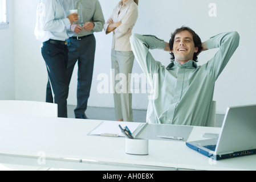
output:
M98 0L65 0L62 5L66 16L70 14L70 10L78 10L78 22L66 26L69 37L67 79L70 84L75 64L78 63L77 106L74 113L76 118L87 119L85 112L96 49L94 32L102 31L105 20ZM52 102L51 89L47 91L47 102Z

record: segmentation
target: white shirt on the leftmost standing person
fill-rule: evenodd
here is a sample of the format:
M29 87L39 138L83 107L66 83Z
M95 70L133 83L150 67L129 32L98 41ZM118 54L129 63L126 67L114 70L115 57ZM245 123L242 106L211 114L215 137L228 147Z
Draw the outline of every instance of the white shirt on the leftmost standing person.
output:
M36 11L35 36L40 42L49 39L64 41L68 38L61 0L39 0Z

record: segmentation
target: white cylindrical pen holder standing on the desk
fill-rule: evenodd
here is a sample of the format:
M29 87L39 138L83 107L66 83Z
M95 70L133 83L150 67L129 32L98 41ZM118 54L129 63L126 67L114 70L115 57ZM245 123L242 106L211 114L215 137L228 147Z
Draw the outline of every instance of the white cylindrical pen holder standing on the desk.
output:
M125 153L133 155L148 155L148 139L125 139Z

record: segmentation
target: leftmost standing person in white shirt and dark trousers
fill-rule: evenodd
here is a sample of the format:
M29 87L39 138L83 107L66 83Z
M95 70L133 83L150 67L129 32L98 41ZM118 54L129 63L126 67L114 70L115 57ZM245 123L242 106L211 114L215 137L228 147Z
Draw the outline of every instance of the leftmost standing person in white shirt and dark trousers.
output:
M42 42L42 56L46 62L48 81L58 104L58 117L67 117L68 38L66 26L78 21L78 14L64 16L60 0L39 0L36 11L35 36Z

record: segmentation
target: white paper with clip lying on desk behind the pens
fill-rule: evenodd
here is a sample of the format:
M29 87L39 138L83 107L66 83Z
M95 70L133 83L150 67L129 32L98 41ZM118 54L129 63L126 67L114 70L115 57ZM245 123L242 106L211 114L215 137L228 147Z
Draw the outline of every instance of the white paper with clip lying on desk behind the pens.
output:
M120 130L119 125L121 125L121 127L123 128L127 126L131 131L133 137L136 137L136 135L140 133L141 129L143 129L146 123L103 121L100 123L99 126L97 126L94 130L88 133L88 135L125 137L122 131Z

